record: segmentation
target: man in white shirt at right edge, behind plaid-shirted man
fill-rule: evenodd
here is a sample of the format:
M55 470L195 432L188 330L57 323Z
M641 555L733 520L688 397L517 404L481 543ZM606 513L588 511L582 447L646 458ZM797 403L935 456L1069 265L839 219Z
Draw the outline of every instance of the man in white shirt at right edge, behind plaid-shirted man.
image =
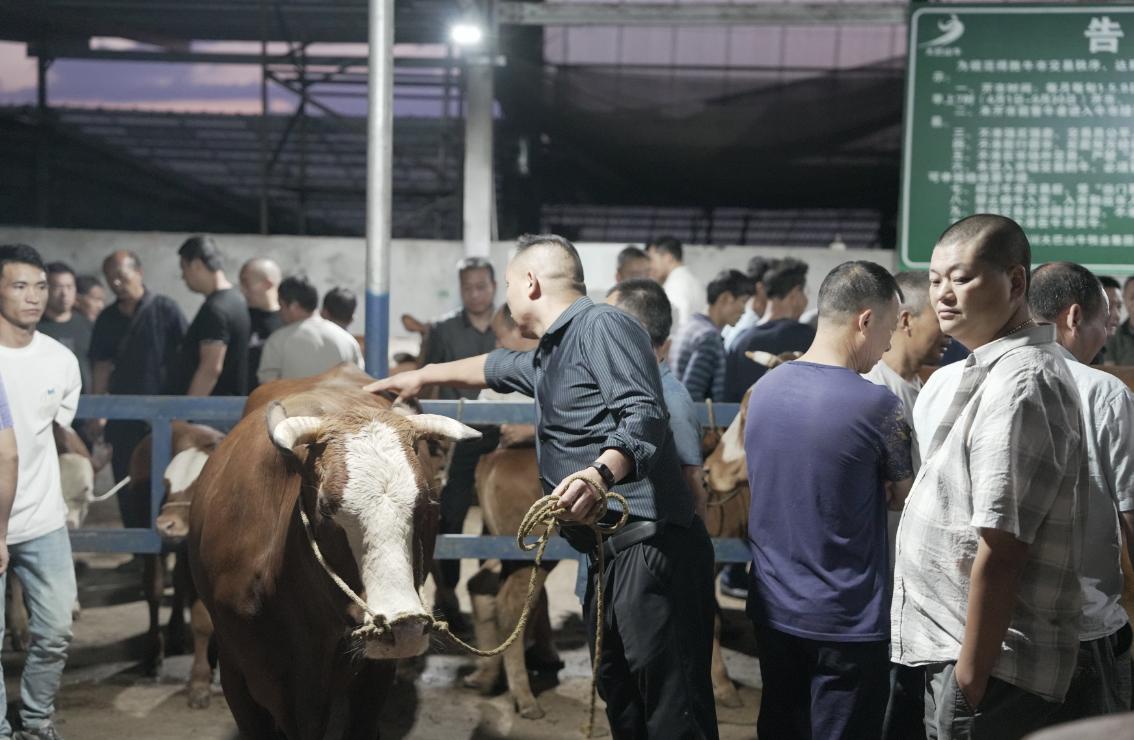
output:
M1059 711L1070 722L1131 708L1131 624L1123 609L1119 512L1134 511L1134 393L1089 363L1107 341L1109 307L1098 278L1082 265L1053 262L1032 274L1029 305L1052 324L1078 388L1086 432L1091 499L1083 544L1083 621L1078 670Z

